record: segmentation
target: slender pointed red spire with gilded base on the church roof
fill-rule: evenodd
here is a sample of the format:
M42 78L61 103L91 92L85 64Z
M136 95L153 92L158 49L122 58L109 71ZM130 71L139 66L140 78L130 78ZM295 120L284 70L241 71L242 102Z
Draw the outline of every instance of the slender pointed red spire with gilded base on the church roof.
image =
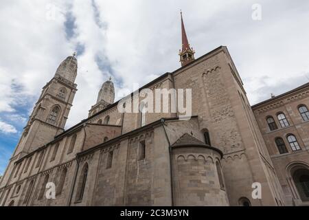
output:
M188 63L194 61L194 50L191 47L189 41L187 41L187 34L185 33L185 25L183 24L183 12L181 12L181 39L182 39L182 48L179 50L181 66L185 66Z

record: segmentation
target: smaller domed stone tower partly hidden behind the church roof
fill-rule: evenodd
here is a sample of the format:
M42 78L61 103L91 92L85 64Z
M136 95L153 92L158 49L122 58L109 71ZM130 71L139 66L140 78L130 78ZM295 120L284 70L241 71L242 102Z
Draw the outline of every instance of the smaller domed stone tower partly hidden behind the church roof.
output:
M99 94L97 103L93 105L89 111L89 116L94 115L95 113L101 111L102 109L106 108L109 104L113 104L115 100L115 87L111 80L107 80L103 83Z

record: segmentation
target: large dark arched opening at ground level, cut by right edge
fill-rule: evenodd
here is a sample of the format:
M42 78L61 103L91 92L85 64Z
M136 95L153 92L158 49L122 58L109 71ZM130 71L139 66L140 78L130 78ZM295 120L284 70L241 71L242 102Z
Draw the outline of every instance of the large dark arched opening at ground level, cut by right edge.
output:
M309 170L299 168L293 173L293 180L302 201L309 201Z

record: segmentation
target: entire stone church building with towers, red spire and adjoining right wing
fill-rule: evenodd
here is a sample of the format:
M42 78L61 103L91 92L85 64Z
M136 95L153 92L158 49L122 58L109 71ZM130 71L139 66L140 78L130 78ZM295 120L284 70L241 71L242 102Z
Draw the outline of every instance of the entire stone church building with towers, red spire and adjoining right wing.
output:
M89 117L65 130L77 91L69 56L43 87L0 180L1 206L308 205L309 84L251 107L227 47L195 59L181 24L182 67L139 91L192 89L192 117L120 112L110 79ZM54 199L45 196L50 183Z

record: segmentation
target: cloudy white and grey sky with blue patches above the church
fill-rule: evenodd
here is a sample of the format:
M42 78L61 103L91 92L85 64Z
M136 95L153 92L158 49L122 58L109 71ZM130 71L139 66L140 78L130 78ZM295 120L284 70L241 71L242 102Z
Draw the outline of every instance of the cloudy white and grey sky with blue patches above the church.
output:
M109 76L120 98L179 68L180 9L196 57L226 45L255 104L309 81L308 8L307 0L1 0L0 175L41 88L74 51L67 127L87 117Z

